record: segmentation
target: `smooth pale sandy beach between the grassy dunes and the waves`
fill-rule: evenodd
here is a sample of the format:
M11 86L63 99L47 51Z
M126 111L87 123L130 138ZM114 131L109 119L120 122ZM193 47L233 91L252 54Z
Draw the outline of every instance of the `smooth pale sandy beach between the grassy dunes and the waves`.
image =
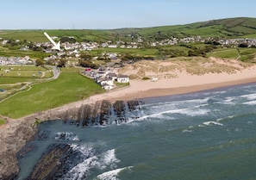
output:
M179 74L179 78L159 79L156 82L150 80L131 80L130 86L121 90L112 90L102 95L91 96L91 101L108 99L131 100L151 96L169 96L210 90L236 84L248 84L256 82L256 68L239 71L235 74L206 74L203 76L188 75L185 72Z

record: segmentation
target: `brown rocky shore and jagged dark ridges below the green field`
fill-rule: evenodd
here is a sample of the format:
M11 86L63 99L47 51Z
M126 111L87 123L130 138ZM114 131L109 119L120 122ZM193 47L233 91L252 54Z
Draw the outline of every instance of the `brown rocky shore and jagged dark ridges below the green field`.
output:
M78 107L74 106L72 109L65 107L50 109L28 115L19 120L8 120L8 124L0 127L0 179L9 180L16 178L19 173L17 152L20 152L22 147L25 146L29 140L34 139L35 133L37 133L37 124L41 121L63 120L83 127L88 125L105 125L112 123L108 121L108 116L111 115L113 111L116 113L116 123L122 123L125 122L125 111L136 109L135 107L138 107L140 103L141 102L138 101L129 101L126 105L123 101L117 101L113 104L112 108L109 101L102 101L96 102L93 105L82 104ZM44 135L45 134L41 134L41 136ZM56 153L62 153L58 151L59 150L57 150ZM54 153L55 152L53 152L53 154ZM50 158L45 159L46 161L42 161L41 164L47 164L47 159L50 160ZM43 166L40 166L39 170L43 169L41 167ZM53 171L49 170L47 172L51 174ZM47 172L45 172L44 175L47 174Z

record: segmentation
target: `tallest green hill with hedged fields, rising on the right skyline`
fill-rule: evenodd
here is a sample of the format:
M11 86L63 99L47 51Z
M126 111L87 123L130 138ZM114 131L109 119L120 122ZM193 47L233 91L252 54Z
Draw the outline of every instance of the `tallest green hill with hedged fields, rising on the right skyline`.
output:
M178 26L140 28L136 33L152 39L165 36L183 38L197 35L228 39L256 37L256 18L239 17Z

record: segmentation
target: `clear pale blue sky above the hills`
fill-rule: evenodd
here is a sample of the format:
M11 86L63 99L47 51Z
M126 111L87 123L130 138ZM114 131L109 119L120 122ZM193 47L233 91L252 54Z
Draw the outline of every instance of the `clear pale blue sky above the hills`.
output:
M256 17L254 0L1 0L0 29L147 28Z

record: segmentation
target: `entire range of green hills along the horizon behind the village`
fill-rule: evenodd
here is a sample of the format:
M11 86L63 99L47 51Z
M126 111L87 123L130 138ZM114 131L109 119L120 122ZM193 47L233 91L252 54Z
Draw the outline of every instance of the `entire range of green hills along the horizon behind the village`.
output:
M0 38L13 40L30 40L34 42L47 41L43 32L46 30L2 30ZM237 17L208 22L195 22L185 25L163 26L152 28L120 28L109 30L92 29L54 29L47 30L51 36L72 36L78 41L132 40L142 37L154 41L183 38L200 35L202 37L218 38L256 38L256 18Z

